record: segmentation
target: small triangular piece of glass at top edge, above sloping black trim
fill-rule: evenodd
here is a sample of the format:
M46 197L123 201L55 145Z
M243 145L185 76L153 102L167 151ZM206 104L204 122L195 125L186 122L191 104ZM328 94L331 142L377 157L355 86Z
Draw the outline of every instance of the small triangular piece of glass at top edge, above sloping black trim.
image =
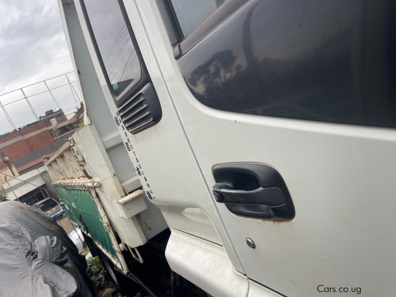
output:
M170 0L184 36L189 36L224 0Z

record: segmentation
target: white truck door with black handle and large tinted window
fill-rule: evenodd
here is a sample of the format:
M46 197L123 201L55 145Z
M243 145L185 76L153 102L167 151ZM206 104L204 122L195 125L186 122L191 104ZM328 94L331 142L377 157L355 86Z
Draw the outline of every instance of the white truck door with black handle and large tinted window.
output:
M392 296L395 3L158 2L137 5L247 277Z

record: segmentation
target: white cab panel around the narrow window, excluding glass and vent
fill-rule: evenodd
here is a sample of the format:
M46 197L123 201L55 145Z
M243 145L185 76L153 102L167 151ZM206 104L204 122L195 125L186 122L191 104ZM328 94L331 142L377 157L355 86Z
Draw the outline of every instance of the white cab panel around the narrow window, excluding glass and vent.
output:
M117 108L78 2L76 8L104 96L112 115L116 116ZM150 196L154 198L150 201L162 210L169 226L222 244L234 265L243 271L169 97L137 7L133 1L125 1L125 8L162 108L161 120L147 130L130 135L123 131L121 125L118 128L123 142L131 144L129 158L135 168L143 167L144 175L139 176L143 189L146 193L152 191ZM192 216L183 214L186 208L200 209L201 219L194 220Z

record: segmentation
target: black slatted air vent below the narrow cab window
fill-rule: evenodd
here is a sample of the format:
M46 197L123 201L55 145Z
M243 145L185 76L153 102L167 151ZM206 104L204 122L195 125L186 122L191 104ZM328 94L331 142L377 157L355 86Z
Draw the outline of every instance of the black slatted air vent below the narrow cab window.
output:
M121 121L129 133L138 133L161 119L161 106L151 83L148 83L134 97L119 109Z

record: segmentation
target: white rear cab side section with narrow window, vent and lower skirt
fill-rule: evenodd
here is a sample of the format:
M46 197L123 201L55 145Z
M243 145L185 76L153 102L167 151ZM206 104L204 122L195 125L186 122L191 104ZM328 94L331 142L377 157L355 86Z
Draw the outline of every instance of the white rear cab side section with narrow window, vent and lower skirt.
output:
M69 0L62 5L70 6ZM171 230L166 248L171 269L212 296L247 296L248 279L183 130L136 2L76 0L75 7L147 203L161 209Z

